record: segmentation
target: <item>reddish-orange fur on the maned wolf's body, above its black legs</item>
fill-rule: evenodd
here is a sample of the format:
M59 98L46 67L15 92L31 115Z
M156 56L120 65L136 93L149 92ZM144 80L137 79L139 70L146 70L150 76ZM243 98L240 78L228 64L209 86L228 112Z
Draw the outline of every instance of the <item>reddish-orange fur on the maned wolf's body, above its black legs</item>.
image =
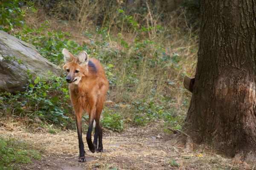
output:
M70 84L70 98L76 114L82 114L82 109L88 114L94 114L93 109L101 110L108 91L108 80L102 66L97 59L91 58L90 61L96 66L96 73L93 73L92 68L89 68L87 72L86 68L78 65L76 61L72 61L63 67L65 69L69 65L70 72L75 68L80 68L79 72L84 74L78 85ZM97 112L96 115L90 115L90 117L99 117L100 113Z

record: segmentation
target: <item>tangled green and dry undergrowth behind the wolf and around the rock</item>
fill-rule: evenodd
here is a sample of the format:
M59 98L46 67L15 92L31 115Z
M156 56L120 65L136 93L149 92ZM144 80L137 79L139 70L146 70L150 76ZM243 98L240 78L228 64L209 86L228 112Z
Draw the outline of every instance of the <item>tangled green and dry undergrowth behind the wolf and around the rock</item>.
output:
M111 1L102 4L111 6L103 17L95 11L100 20L93 23L95 18L90 16L93 9L99 10L98 1L81 8L68 3L58 5L68 7L65 14L69 17L58 18L57 9L49 16L31 1L6 1L0 4L4 9L1 29L35 45L42 56L60 67L63 48L75 55L84 50L99 59L110 82L107 100L115 103L106 105L102 113L105 128L122 131L125 124L144 126L163 120L164 129L181 129L190 97L182 81L184 75L193 75L197 51L196 32L187 23L186 8L169 13L171 17L164 22L165 16L151 3L143 3L136 12ZM93 8L84 11L88 6ZM30 77L25 91L1 93L0 99L4 115L75 127L64 75Z

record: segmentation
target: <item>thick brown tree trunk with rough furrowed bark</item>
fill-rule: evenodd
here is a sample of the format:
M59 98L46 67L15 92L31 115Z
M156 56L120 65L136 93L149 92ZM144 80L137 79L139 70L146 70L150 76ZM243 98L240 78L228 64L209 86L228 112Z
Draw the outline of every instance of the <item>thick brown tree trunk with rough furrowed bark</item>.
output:
M198 65L186 129L256 161L256 0L201 0Z

